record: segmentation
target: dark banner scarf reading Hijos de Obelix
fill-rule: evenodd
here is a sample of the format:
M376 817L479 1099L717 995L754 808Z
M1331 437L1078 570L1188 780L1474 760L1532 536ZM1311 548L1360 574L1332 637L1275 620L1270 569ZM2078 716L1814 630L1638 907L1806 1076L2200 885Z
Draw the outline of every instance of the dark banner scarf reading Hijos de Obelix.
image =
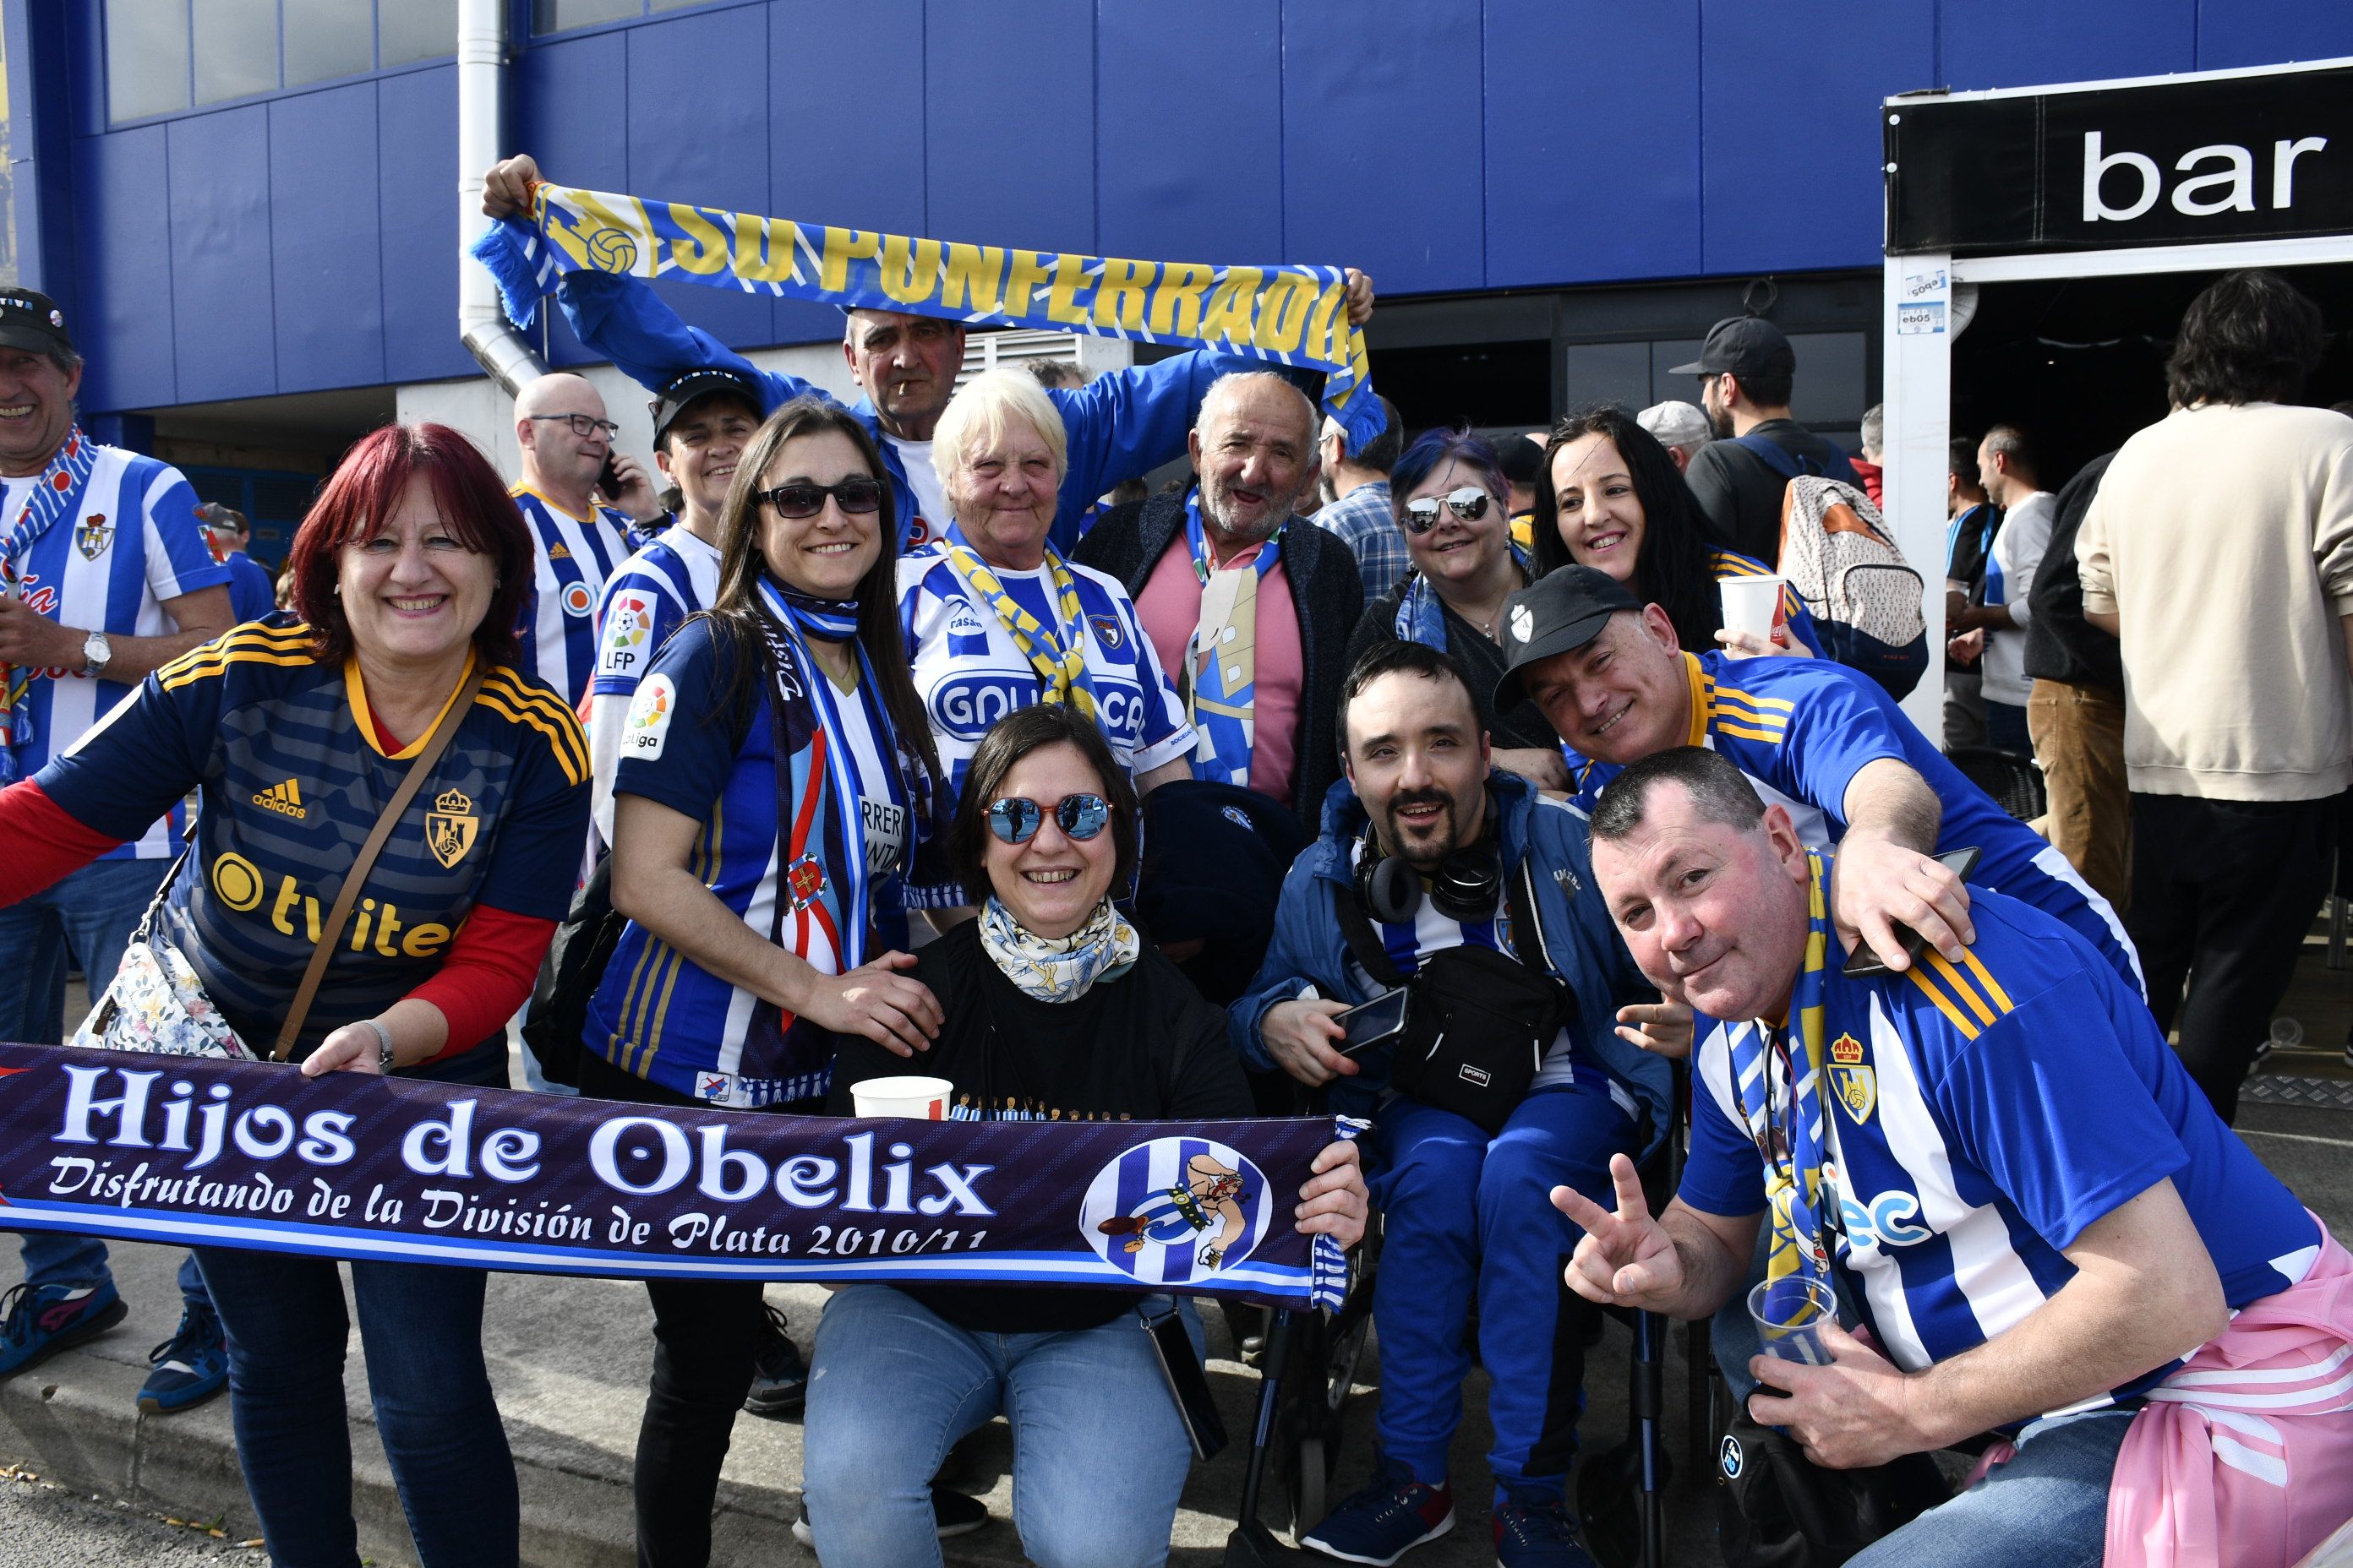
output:
M856 1121L0 1044L0 1229L624 1279L1337 1307L1353 1124Z

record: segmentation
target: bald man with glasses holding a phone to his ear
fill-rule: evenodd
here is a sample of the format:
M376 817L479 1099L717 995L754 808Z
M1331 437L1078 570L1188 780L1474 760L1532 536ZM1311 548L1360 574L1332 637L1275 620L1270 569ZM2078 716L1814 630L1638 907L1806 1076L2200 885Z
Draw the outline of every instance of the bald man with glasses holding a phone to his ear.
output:
M555 374L515 395L515 447L522 480L515 505L532 524L534 578L522 602L522 668L555 686L572 708L588 696L595 668L595 602L605 578L642 543L633 517L661 505L635 458L619 456L605 400L581 376ZM602 480L612 463L614 480ZM598 489L628 508L598 505Z

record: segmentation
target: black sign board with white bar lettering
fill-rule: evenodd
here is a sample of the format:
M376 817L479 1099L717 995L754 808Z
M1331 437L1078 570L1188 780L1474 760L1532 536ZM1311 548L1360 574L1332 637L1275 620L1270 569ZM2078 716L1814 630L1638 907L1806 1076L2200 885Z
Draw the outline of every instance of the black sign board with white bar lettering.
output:
M1882 110L1887 252L2353 233L2353 66Z

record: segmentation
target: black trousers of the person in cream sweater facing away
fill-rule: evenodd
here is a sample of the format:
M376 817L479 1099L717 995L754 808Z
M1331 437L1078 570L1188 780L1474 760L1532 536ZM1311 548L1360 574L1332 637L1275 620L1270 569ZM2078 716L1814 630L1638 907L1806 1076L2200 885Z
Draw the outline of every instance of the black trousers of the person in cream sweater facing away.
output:
M2158 1027L2181 1030L2181 1065L2224 1121L2238 1119L2238 1086L2287 994L2334 853L2334 797L2132 797L2125 929Z

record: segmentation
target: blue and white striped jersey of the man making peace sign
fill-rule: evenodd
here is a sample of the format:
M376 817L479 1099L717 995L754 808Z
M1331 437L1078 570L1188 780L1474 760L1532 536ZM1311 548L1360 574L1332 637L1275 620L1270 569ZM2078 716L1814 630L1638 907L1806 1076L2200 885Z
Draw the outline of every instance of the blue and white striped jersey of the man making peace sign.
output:
M2221 1124L2137 987L2026 903L1979 891L1969 917L1960 964L1826 971L1833 1255L1889 1359L1920 1371L2017 1328L2075 1276L2064 1251L2165 1178L2231 1307L2304 1279L2318 1225ZM1744 1126L1732 1084L1732 1034L1751 1027L1699 1020L1682 1201L1706 1213L1765 1208L1765 1128Z

